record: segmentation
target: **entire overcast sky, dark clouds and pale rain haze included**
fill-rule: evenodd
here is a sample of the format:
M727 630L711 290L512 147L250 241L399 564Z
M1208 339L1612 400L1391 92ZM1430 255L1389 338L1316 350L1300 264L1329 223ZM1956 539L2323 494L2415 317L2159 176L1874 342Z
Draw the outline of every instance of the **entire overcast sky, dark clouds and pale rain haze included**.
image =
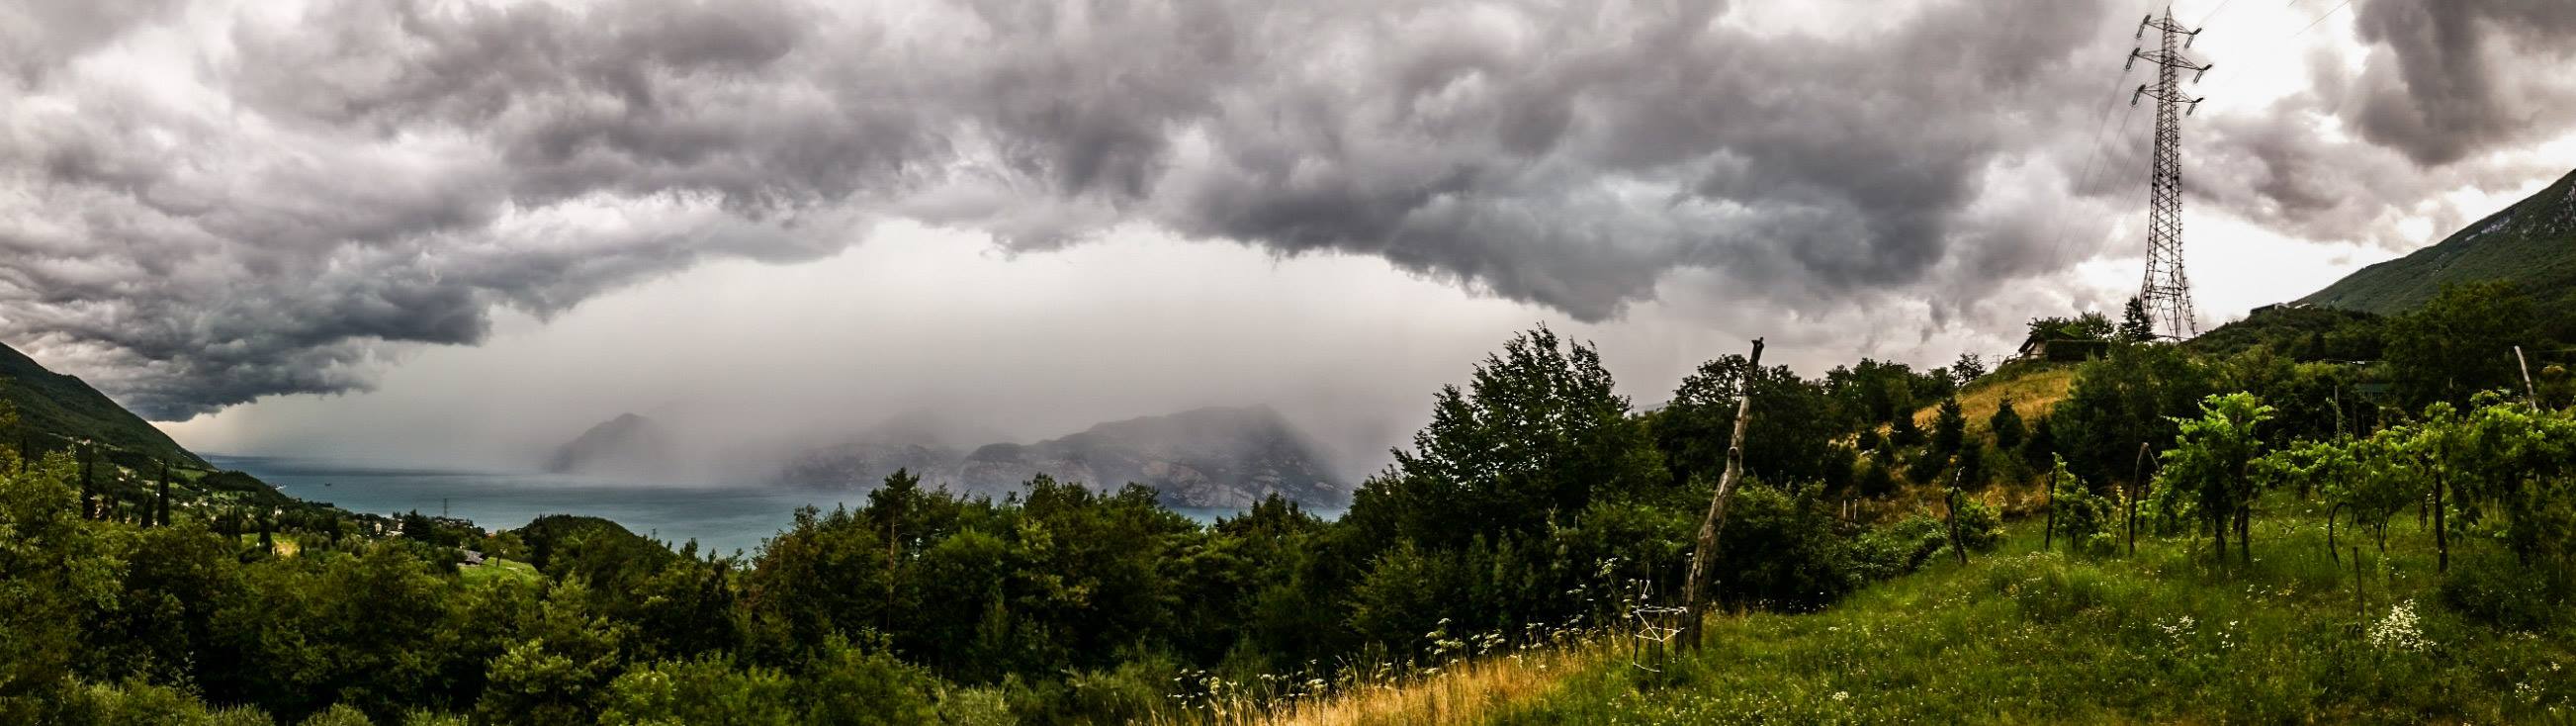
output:
M2148 8L10 3L0 340L227 453L1275 404L1365 469L1538 322L1646 404L2117 309ZM2576 167L2576 3L2174 15L2202 327Z

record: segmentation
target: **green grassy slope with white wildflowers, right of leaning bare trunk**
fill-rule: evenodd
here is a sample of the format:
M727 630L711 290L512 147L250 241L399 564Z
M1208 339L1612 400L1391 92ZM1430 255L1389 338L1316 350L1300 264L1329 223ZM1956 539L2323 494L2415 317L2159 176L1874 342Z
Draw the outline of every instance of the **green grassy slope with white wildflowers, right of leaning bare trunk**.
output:
M2040 554L2022 525L2004 554L1942 561L1816 615L1718 618L1708 651L1664 675L1605 662L1492 721L2576 718L2576 633L2450 615L2427 538L2401 517L2385 561L2362 543L2370 605L2357 615L2352 564L2326 559L2316 515L2259 520L2257 561L2236 572L2190 538L2141 538L2136 559ZM2432 649L2370 644L2401 600Z

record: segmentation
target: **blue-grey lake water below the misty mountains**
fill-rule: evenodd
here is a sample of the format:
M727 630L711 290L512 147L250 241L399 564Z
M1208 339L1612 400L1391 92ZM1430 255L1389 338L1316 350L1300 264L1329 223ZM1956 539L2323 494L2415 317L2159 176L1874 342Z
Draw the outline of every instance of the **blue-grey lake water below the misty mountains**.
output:
M590 515L675 546L696 538L701 551L716 554L757 551L762 538L788 528L796 507L829 510L868 502L868 492L855 489L631 484L572 474L438 471L281 456L206 456L206 461L250 471L289 497L330 502L350 512L448 512L487 530L518 528L538 515ZM1239 510L1180 507L1180 512L1211 523Z

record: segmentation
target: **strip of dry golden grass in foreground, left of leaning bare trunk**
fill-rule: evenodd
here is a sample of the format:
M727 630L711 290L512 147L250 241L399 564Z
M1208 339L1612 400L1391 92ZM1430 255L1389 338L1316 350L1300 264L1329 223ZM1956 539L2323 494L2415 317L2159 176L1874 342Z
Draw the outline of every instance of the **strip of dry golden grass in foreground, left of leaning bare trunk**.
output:
M1525 649L1461 659L1406 680L1345 687L1321 698L1208 708L1167 723L1226 726L1378 726L1378 723L1484 723L1556 693L1566 677L1633 654L1602 636L1553 649Z

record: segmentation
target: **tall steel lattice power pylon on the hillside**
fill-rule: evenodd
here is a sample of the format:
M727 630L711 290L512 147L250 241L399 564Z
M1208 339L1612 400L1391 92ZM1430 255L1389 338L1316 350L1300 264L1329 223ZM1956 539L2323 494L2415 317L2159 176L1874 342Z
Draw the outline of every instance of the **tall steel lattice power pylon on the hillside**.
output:
M2182 28L2174 23L2174 8L2164 10L2164 18L2146 15L2138 21L2138 39L2146 39L2146 28L2156 28L2164 44L2156 51L2133 49L2128 51L2128 67L2138 62L2156 64L2156 82L2138 85L2128 103L2138 106L2138 98L2156 98L2156 162L2148 175L2148 206L2146 206L2146 283L2138 286L2138 301L2146 304L2146 317L2164 330L2166 337L2182 340L2200 335L2200 322L2192 317L2192 281L2182 275L2182 116L2200 111L2200 98L2182 95L2182 72L2192 72L2192 82L2200 82L2210 72L2208 64L2195 64L2182 49L2192 46L2200 28ZM2174 44L2182 44L2179 49ZM2179 113L2177 113L2179 111Z

